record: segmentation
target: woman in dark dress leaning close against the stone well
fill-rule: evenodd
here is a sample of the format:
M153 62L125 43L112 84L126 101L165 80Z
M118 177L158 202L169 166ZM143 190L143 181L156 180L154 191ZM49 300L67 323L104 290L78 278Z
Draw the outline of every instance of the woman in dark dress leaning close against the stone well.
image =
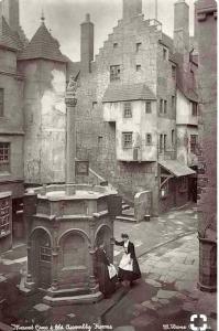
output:
M100 291L105 298L109 298L116 291L117 275L110 278L110 261L105 250L105 244L99 244L96 250L96 276L99 282Z

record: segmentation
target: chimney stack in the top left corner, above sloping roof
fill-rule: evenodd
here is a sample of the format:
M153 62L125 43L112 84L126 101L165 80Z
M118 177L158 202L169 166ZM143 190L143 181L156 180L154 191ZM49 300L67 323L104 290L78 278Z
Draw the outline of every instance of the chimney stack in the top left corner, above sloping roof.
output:
M18 31L20 26L19 0L2 0L1 14L13 31Z

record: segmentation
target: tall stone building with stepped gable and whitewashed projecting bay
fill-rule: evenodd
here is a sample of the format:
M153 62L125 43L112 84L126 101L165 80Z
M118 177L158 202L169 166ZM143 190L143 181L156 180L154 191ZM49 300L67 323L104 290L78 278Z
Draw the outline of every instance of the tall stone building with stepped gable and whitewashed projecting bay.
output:
M77 157L128 201L151 190L154 215L185 204L195 184L197 63L188 28L185 1L175 3L174 40L144 20L141 0L123 1L123 18L88 64L94 25L88 17L81 24L89 55L81 52Z

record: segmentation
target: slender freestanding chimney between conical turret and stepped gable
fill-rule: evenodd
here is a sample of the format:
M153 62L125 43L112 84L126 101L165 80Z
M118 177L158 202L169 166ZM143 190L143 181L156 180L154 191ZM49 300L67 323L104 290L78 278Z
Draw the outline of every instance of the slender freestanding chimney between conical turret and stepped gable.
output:
M94 23L90 22L90 14L86 14L86 20L80 24L80 71L81 74L91 72L91 61L94 61Z

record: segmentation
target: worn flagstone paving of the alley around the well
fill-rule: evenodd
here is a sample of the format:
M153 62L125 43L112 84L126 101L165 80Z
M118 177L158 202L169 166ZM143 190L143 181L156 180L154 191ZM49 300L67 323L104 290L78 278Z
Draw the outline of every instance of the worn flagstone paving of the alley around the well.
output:
M0 264L3 274L0 285L8 284L13 299L2 321L8 324L19 320L28 324L34 321L43 325L99 322L111 324L117 331L160 331L177 327L189 330L190 316L205 313L209 330L216 331L216 296L204 295L197 289L196 228L195 207L172 211L149 223L116 222L114 236L119 238L125 232L135 244L142 279L128 291L120 288L111 299L86 305L86 309L85 306L51 308L43 303L43 293L22 297L15 284L21 279L21 268L25 267L25 257L19 255L23 248L8 253ZM116 264L120 257L121 249L114 247Z

